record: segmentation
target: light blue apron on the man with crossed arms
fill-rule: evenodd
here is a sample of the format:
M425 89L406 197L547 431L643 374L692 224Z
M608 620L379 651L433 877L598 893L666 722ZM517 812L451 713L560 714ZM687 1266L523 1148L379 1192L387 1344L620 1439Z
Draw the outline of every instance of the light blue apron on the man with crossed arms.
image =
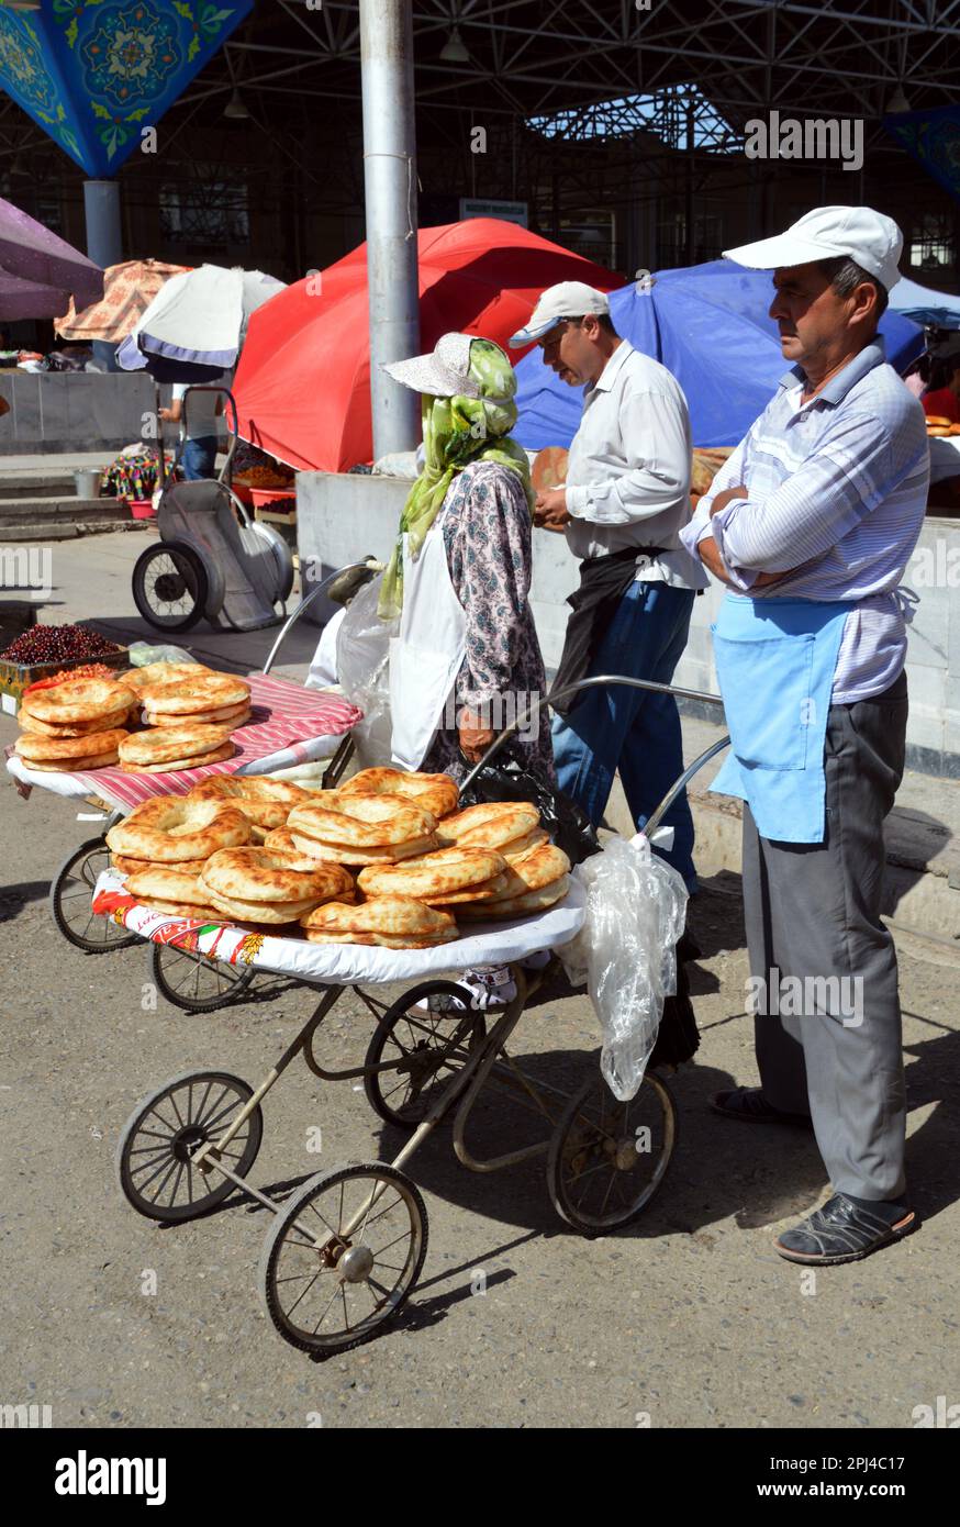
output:
M726 594L711 626L731 751L710 788L746 800L765 838L824 840L827 712L844 621L856 608Z

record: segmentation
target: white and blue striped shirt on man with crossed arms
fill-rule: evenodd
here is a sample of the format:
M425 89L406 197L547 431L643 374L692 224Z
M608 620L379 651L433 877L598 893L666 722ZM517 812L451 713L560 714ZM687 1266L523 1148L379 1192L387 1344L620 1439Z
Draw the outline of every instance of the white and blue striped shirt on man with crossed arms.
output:
M907 623L894 592L926 510L929 450L923 409L885 363L876 339L803 403L791 366L749 434L714 478L681 539L693 551L713 534L734 588L759 573L789 577L755 599L856 600L847 614L833 701L882 695L907 660ZM710 518L723 489L743 484Z

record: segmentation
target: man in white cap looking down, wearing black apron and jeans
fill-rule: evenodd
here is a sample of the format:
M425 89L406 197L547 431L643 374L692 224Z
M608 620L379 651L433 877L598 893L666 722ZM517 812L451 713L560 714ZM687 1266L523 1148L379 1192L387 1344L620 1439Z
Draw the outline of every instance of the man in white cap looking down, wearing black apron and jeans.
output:
M585 386L566 483L539 493L534 513L537 525L563 531L580 557L554 687L600 673L668 684L687 644L694 592L708 582L679 539L690 519L687 399L664 366L617 333L607 295L581 281L548 287L510 344L533 341L543 365L569 386ZM597 687L559 712L560 788L598 825L620 770L630 815L643 828L684 770L673 696ZM693 817L684 791L664 826L675 834L664 857L693 892Z

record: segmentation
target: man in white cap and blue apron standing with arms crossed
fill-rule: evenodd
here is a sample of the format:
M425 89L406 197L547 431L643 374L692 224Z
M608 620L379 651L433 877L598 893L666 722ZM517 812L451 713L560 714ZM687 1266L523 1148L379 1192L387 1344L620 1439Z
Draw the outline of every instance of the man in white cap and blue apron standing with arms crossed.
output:
M792 362L684 541L728 585L714 654L743 800L743 901L760 1087L726 1118L812 1125L832 1197L775 1240L853 1261L908 1234L896 950L881 921L884 817L904 771L900 577L923 522L923 411L878 322L902 235L826 206L726 250L771 269Z

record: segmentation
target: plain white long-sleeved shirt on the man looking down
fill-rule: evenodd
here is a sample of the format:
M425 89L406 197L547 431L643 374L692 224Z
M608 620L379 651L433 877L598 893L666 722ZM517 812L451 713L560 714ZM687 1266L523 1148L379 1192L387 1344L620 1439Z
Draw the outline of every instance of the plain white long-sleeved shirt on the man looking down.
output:
M569 447L566 541L575 557L627 547L662 547L638 562L636 577L705 588L699 557L681 542L690 521L691 437L687 399L659 362L623 339L583 394Z

